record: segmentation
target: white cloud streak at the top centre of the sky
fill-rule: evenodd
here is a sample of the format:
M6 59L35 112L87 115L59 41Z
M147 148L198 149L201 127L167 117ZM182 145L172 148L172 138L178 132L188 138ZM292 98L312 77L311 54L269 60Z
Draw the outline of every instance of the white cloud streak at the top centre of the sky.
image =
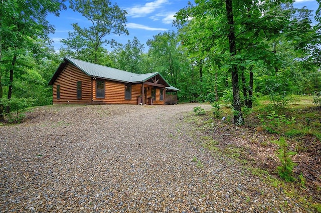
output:
M169 4L169 0L156 0L154 2L146 3L143 6L136 5L125 10L130 17L145 17L146 15L153 13L156 9L162 8L165 4Z

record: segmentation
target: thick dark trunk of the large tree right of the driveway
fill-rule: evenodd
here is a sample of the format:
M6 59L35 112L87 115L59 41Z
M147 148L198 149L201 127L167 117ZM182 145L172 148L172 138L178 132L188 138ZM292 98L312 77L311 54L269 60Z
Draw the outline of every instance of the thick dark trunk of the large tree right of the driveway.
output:
M236 55L236 44L235 44L235 29L234 29L234 20L233 20L233 9L232 9L232 0L225 0L226 5L226 16L227 22L230 25L230 32L228 35L229 47L230 47L230 56L233 57ZM240 101L240 91L239 91L239 76L237 71L237 66L235 64L230 68L232 73L232 88L233 88L233 107L234 107L234 120L233 123L237 126L243 125L244 120L241 112L241 101Z

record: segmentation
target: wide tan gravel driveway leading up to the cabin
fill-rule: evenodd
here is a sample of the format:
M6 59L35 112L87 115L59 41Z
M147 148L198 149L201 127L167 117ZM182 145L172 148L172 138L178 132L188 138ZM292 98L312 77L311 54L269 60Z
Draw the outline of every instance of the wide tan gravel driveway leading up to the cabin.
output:
M307 212L195 145L195 106L41 107L0 127L1 212Z

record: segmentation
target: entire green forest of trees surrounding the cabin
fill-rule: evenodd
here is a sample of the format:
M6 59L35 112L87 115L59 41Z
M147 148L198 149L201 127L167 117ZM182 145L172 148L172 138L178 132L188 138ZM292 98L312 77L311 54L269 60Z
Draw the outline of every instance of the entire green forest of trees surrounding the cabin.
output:
M159 72L181 89L181 103L230 103L237 125L244 123L242 107L251 108L257 98L286 100L321 91L320 7L314 15L287 0L198 0L177 12L176 32L153 36L145 51L136 37L126 44L110 39L128 35L127 12L117 4L68 5L91 26L74 23L55 51L49 38L55 27L47 17L66 10L65 1L2 1L0 119L10 111L8 100L52 104L48 81L65 56L133 73Z

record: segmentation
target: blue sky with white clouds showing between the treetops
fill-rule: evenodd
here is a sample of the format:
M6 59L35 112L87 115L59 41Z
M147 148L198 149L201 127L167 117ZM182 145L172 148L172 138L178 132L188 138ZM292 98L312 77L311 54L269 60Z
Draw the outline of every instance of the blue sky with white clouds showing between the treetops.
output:
M129 36L110 34L107 39L115 39L118 43L126 44L128 40L131 41L134 37L137 37L146 50L146 41L152 39L154 35L169 30L176 31L172 24L173 16L180 9L186 7L188 2L188 0L112 0L112 3L117 3L121 9L126 10L128 13L126 28L129 31ZM191 2L194 3L194 1ZM318 7L315 0L297 0L294 6L296 8L306 6L314 12ZM48 16L48 21L56 28L56 33L50 35L50 38L54 41L55 50L62 46L60 39L66 39L68 31L73 30L72 23L77 22L81 27L90 26L85 17L69 8L66 11L62 11L59 17ZM107 49L110 50L109 47Z

